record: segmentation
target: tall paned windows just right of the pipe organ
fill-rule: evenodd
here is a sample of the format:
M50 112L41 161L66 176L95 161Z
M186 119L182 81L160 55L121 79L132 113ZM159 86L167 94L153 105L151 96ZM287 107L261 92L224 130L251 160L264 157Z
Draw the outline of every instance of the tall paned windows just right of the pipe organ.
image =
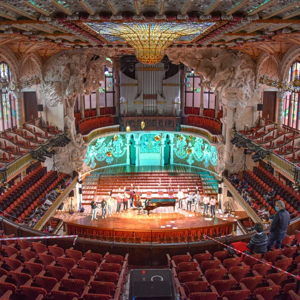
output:
M204 88L200 86L200 77L187 69L185 82L185 106L200 107L201 88ZM203 108L215 108L215 95L213 93L213 90L204 88Z

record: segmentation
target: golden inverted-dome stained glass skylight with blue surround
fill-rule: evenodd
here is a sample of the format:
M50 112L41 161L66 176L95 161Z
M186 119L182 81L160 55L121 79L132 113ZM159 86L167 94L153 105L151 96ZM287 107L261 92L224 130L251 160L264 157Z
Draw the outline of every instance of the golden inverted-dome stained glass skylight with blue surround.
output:
M136 58L145 64L161 61L165 49L176 39L188 41L214 22L88 22L109 41L125 40L134 48Z

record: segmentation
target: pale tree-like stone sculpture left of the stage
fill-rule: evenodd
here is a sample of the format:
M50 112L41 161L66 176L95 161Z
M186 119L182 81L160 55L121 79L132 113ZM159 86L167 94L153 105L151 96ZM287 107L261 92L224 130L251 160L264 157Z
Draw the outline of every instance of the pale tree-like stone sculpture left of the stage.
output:
M73 109L78 94L91 94L99 87L99 81L104 81L103 65L111 66L106 56L105 50L70 50L54 55L44 66L42 91L46 105L64 102L66 107L64 124L71 142L56 148L56 164L61 171L88 169L84 162L86 146L81 134L76 134Z

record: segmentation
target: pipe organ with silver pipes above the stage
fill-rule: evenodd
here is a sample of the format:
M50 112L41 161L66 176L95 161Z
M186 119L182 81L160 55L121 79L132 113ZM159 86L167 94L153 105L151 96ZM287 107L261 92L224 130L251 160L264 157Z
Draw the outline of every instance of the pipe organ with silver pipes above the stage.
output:
M180 113L180 71L165 78L162 62L135 64L135 79L120 72L121 115L173 116Z

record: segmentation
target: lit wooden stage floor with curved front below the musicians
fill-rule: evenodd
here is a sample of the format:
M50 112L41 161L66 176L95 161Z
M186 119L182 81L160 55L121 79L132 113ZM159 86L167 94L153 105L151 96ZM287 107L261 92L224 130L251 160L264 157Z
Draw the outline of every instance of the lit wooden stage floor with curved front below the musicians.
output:
M192 206L193 207L193 206ZM84 213L66 214L61 217L67 226L68 234L79 234L81 237L131 242L165 242L192 239L202 239L202 235L227 235L232 233L232 228L239 218L247 217L245 211L216 213L215 218L210 218L201 212L196 213L184 209L175 211L173 207L158 207L146 214L137 214L135 208L112 216L101 218L101 209L98 209L97 219L90 219L90 207L85 206Z

